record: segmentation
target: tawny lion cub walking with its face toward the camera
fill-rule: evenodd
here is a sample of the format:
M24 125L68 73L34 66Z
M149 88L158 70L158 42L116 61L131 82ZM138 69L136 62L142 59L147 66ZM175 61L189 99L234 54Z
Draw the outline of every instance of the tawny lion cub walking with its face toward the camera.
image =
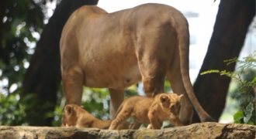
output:
M160 129L164 120L170 120L175 126L182 126L178 118L183 95L176 93L159 93L155 97L133 96L123 101L110 124L109 130L116 127L129 117L133 117L130 129L138 129L141 124Z

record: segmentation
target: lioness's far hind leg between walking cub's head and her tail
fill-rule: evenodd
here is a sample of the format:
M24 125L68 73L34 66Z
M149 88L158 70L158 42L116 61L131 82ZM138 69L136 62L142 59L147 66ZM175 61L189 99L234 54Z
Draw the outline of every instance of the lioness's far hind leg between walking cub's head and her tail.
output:
M177 64L179 67L179 63ZM174 68L174 67L171 66L171 68ZM182 74L180 70L172 69L168 71L167 77L169 82L171 83L171 89L174 91L174 93L178 93L178 95L180 94L184 95L184 98L182 99L182 107L179 112L179 119L182 121L182 124L189 125L191 124L191 120L192 120L193 107L185 91L185 86L182 81Z

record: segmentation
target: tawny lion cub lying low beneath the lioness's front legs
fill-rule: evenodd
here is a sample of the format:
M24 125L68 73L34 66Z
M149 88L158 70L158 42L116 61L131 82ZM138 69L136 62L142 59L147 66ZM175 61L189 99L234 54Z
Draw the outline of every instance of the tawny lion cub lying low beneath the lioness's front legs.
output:
M93 127L103 129L111 124L112 120L99 120L89 114L88 111L75 104L67 104L64 107L62 124L64 127ZM124 121L116 127L117 130L129 129L130 124Z

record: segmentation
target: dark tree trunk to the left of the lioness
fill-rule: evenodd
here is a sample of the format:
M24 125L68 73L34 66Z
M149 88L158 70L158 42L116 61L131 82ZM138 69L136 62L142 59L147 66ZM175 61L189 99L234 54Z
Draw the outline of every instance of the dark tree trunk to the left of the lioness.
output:
M26 102L26 122L29 125L51 126L54 117L46 117L46 114L54 111L57 103L56 93L61 82L59 42L62 29L74 10L81 5L97 5L98 1L62 0L43 29L22 83L21 97L36 95Z

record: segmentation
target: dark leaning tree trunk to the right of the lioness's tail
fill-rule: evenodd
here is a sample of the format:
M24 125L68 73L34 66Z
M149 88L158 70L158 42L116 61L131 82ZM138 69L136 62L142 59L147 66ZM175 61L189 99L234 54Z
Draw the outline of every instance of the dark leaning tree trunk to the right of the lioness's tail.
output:
M213 36L200 73L206 70L234 71L235 63L227 66L223 60L238 57L244 45L248 26L255 15L254 0L222 0L216 15ZM198 76L194 90L199 103L214 119L219 120L225 107L230 77L219 73ZM196 113L192 123L200 122Z

